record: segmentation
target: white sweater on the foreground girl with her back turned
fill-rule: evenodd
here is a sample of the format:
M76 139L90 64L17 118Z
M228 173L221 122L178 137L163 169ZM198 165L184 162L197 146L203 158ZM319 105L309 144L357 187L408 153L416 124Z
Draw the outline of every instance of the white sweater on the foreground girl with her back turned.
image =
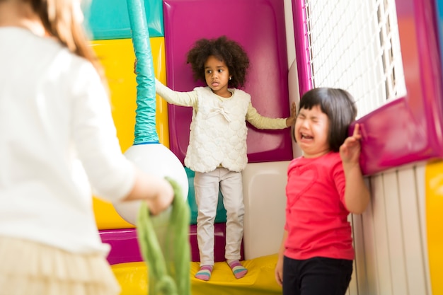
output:
M55 40L0 28L0 235L75 253L108 251L91 186L121 199L134 183L91 63Z

